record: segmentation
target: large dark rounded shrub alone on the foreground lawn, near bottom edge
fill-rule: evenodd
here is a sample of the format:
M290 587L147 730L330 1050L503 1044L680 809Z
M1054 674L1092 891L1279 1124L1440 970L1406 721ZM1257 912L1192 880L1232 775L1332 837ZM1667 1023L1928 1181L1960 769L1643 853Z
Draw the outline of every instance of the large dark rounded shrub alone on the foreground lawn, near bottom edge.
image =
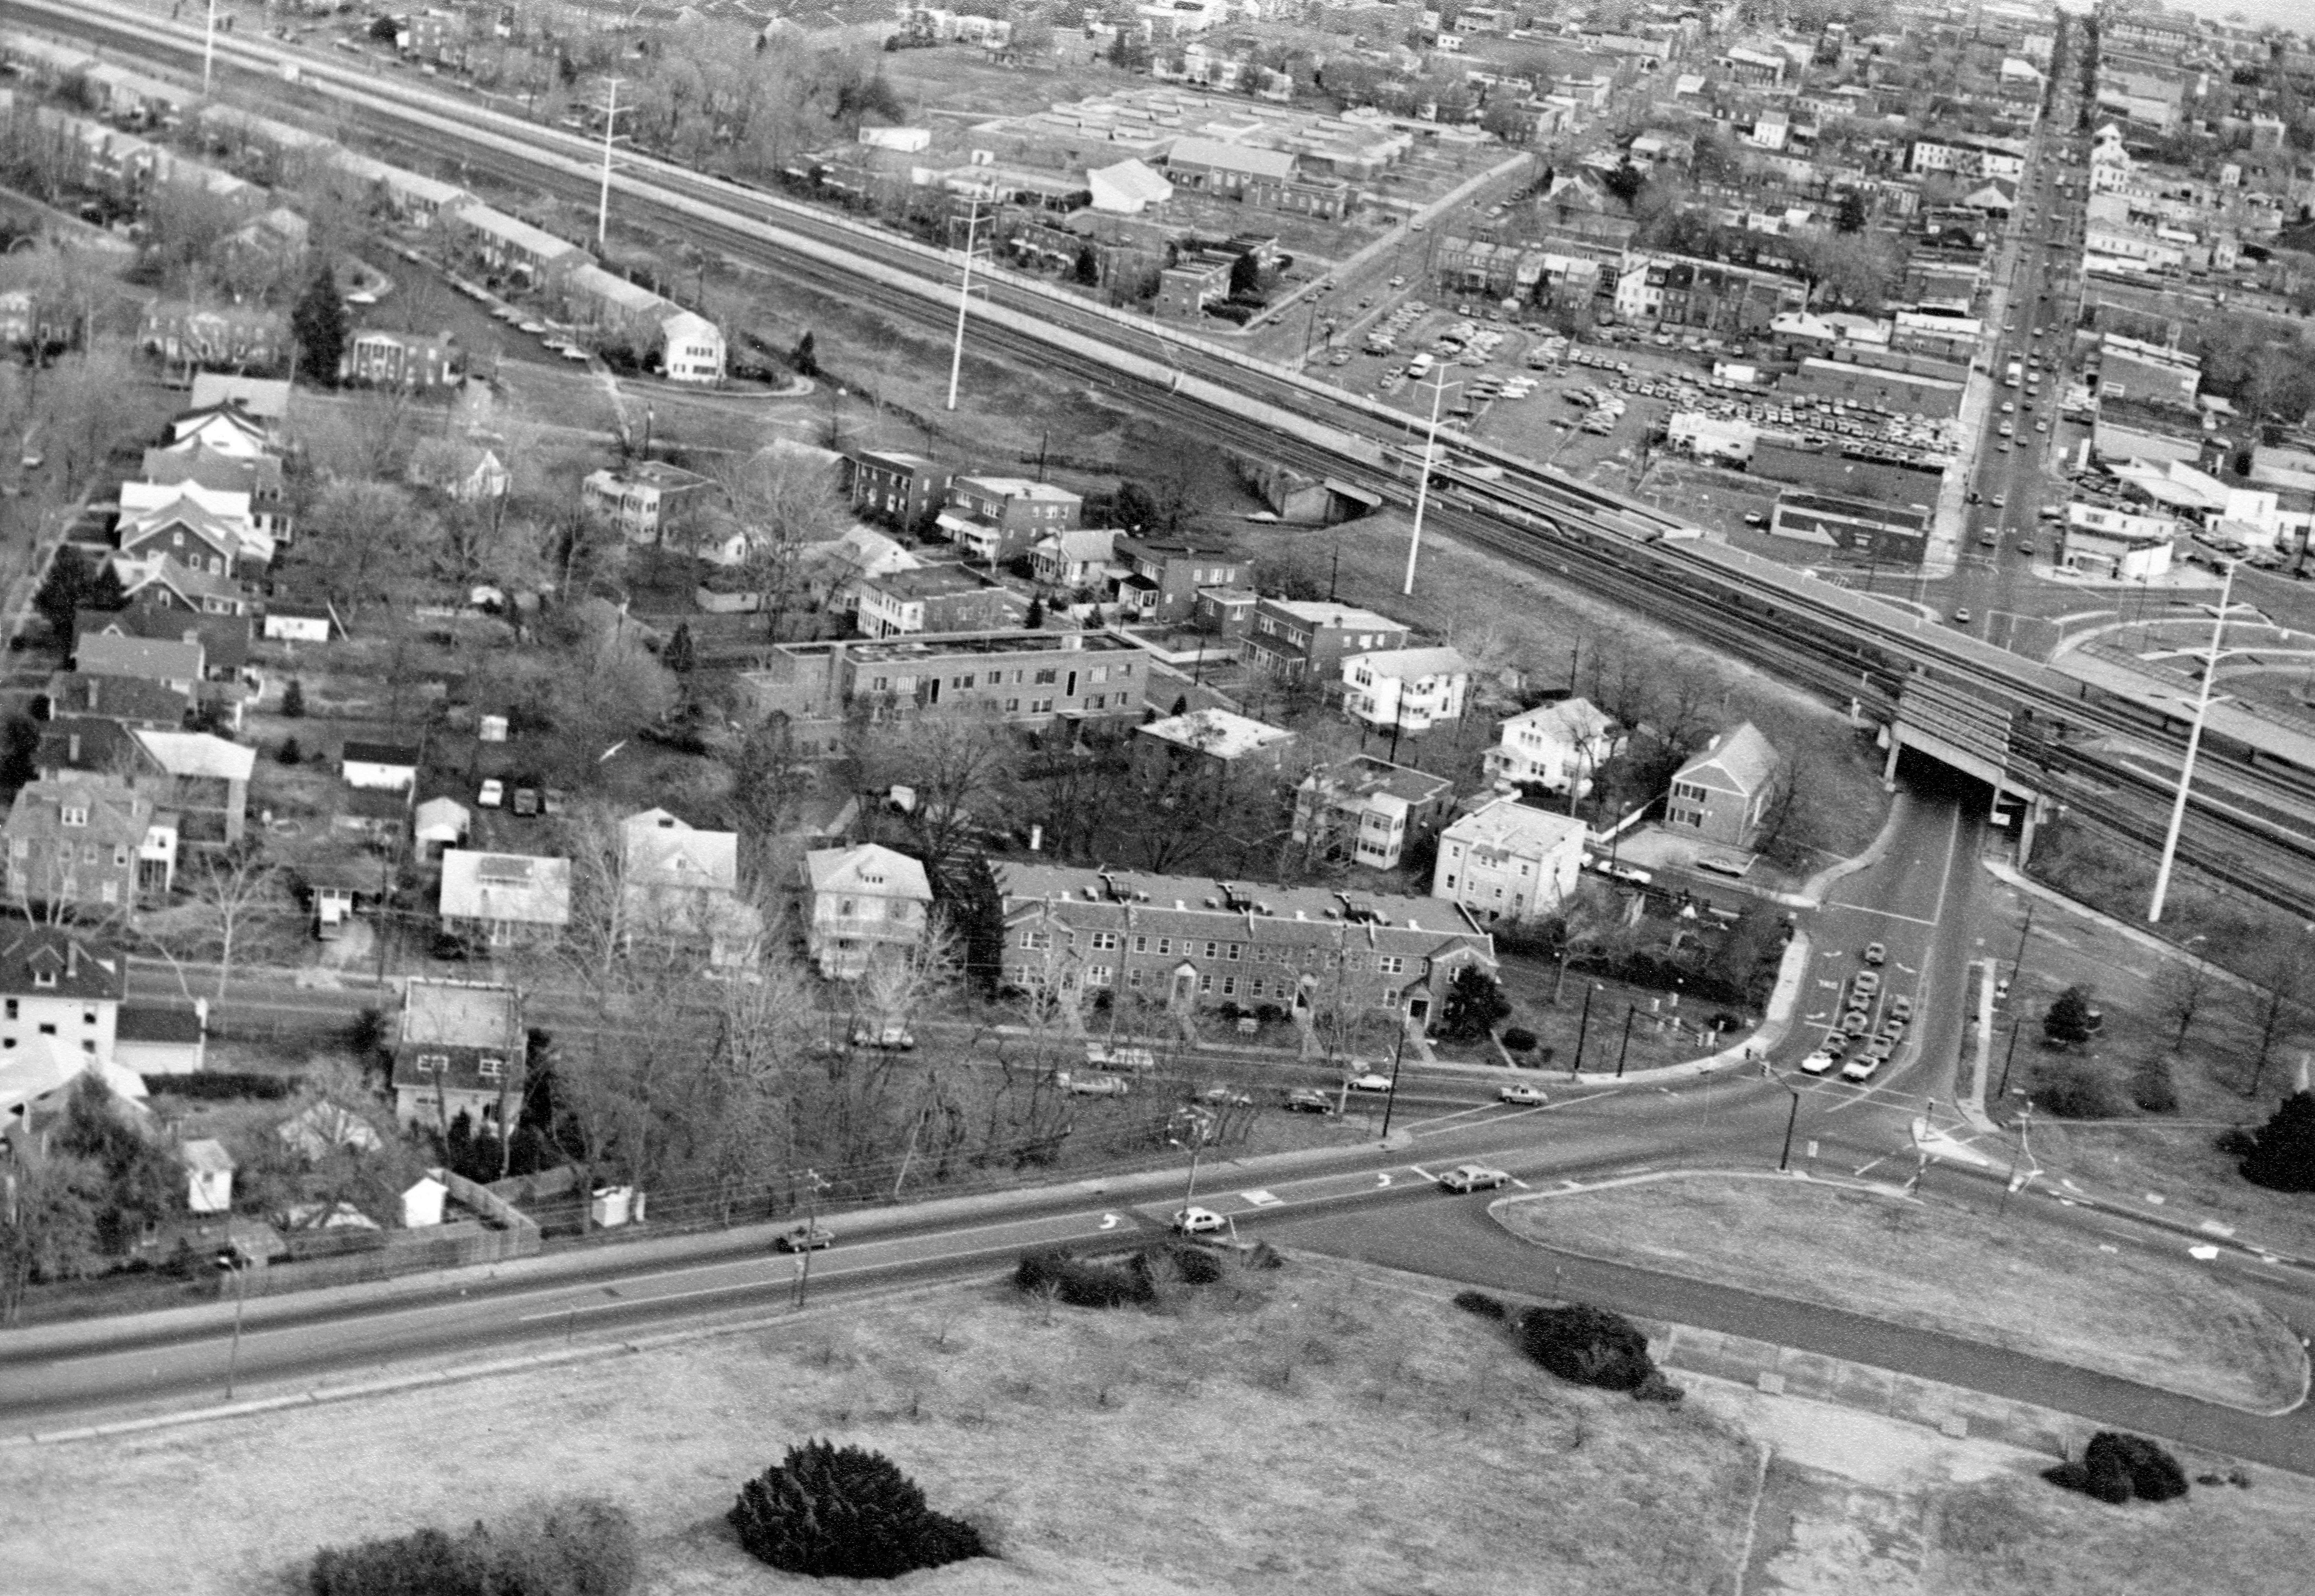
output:
M787 1448L741 1487L729 1522L752 1557L813 1577L896 1580L986 1557L982 1534L926 1508L889 1457L831 1441Z

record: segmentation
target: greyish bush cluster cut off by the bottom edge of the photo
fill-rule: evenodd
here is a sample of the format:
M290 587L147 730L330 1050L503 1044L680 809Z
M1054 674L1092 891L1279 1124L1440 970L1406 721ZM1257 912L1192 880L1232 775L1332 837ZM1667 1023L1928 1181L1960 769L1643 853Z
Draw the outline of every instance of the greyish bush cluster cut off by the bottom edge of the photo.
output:
M634 1522L609 1501L565 1497L498 1529L419 1529L315 1552L313 1596L625 1596L641 1564Z

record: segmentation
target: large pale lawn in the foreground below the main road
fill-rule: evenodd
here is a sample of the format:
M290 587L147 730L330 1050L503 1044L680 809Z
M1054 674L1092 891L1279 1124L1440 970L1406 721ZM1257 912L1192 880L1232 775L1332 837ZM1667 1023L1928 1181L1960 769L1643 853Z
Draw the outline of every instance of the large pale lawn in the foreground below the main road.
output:
M322 1543L528 1497L634 1513L644 1591L808 1589L722 1522L808 1436L891 1455L1000 1561L926 1591L1720 1591L1752 1448L1560 1386L1435 1295L1289 1261L1162 1311L1009 1286L357 1406L0 1455L16 1589L287 1596ZM1539 1499L1546 1494L1546 1501Z

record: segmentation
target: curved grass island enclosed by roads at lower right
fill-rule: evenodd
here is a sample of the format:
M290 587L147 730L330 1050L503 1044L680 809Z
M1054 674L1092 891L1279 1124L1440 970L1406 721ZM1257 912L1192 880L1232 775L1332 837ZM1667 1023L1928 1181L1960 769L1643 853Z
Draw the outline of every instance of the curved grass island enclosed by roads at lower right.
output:
M2178 1258L1940 1203L1695 1175L1512 1200L1514 1233L1595 1258L1822 1302L2248 1409L2303 1388L2306 1353L2246 1293Z

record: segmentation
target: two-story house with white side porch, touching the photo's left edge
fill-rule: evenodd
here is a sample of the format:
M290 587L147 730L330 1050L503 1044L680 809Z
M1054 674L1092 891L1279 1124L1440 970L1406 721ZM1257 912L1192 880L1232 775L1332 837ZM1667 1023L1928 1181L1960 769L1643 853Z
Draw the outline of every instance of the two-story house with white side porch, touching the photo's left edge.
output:
M127 916L176 870L176 817L118 777L28 782L0 835L7 895L23 911Z

